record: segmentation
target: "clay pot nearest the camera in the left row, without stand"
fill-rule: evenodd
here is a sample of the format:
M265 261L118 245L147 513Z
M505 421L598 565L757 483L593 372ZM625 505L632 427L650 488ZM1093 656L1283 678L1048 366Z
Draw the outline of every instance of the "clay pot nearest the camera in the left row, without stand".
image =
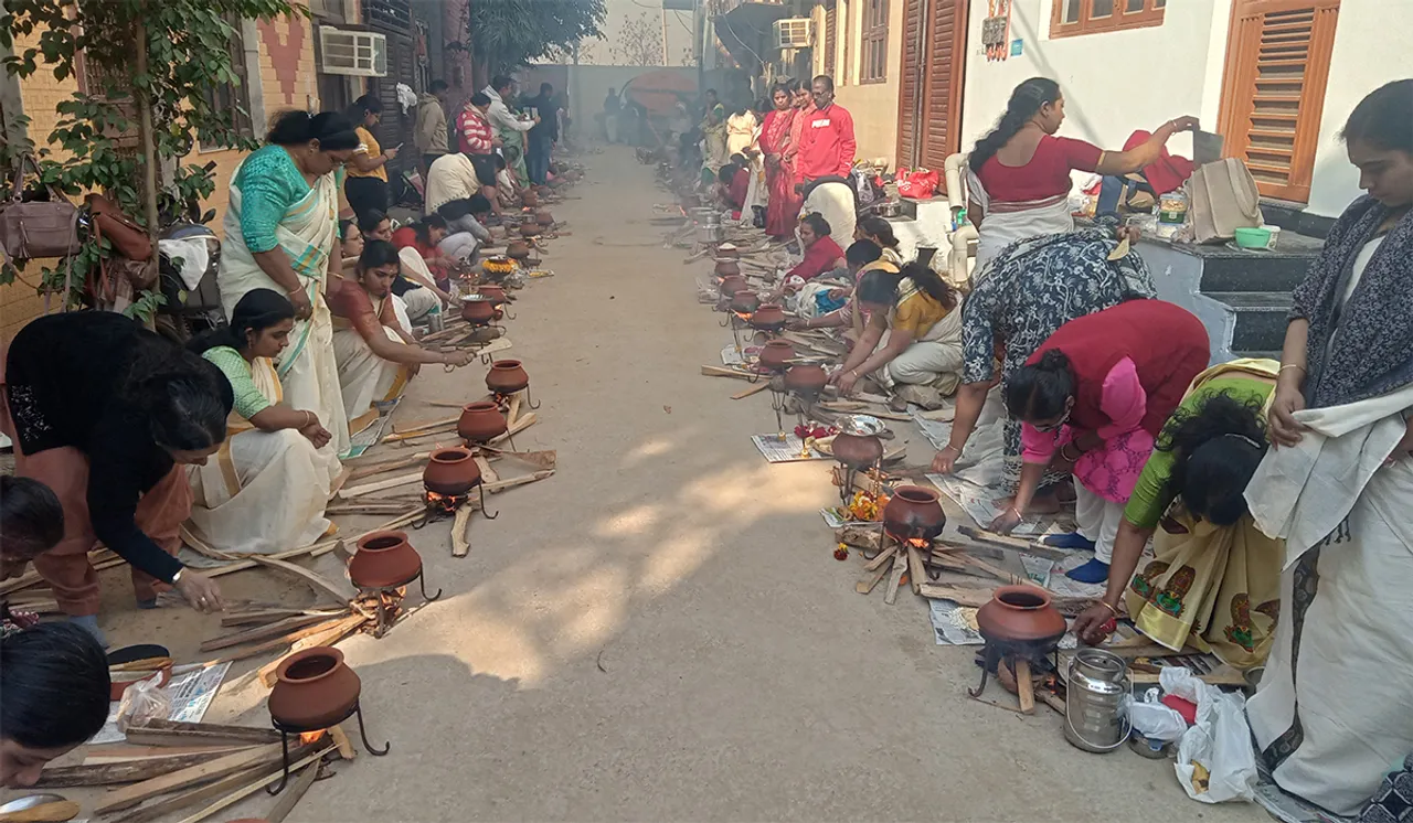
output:
M317 731L342 721L357 706L363 683L333 647L314 647L284 658L274 671L270 717L290 730Z

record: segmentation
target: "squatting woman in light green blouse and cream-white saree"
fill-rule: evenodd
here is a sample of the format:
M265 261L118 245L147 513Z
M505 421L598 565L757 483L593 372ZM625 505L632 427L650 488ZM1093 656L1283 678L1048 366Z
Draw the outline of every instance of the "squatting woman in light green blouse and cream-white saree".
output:
M189 349L230 381L236 408L215 460L188 471L191 522L223 552L307 546L331 529L324 517L339 462L329 432L308 409L283 405L274 357L290 344L294 306L257 288L236 304L230 325Z

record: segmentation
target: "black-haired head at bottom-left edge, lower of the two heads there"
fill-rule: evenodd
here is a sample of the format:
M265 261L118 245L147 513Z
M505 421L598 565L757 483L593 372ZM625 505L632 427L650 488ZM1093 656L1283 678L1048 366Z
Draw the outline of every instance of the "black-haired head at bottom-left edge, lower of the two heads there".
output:
M0 635L0 785L38 783L45 764L102 731L109 692L107 656L82 628L41 623Z

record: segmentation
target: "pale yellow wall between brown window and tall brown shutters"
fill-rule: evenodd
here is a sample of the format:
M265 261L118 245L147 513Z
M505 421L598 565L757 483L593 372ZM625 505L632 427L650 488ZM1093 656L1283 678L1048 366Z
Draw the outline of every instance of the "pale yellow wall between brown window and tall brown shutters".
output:
M882 83L859 83L863 44L863 6L866 0L836 0L834 99L853 116L853 134L859 141L859 160L886 160L896 168L897 95L903 71L904 0L889 0L887 75ZM814 8L814 72L824 72L824 8Z

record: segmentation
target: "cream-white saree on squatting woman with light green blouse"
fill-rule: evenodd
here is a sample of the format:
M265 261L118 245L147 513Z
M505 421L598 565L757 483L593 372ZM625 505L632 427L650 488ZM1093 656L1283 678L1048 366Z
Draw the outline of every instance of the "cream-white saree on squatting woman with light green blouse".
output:
M283 400L268 359L257 359L250 377L271 404ZM191 525L222 552L307 546L331 531L324 507L339 469L331 449L315 449L300 432L261 432L232 411L220 450L205 466L187 467Z

